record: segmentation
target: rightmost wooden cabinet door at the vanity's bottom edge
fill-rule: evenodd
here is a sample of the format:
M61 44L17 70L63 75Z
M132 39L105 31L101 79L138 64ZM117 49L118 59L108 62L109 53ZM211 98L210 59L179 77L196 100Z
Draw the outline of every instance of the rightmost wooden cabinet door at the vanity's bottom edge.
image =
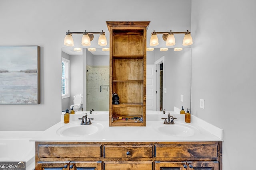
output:
M218 161L193 161L187 162L188 169L192 170L219 170ZM190 168L189 168L190 166ZM193 168L192 168L193 166Z

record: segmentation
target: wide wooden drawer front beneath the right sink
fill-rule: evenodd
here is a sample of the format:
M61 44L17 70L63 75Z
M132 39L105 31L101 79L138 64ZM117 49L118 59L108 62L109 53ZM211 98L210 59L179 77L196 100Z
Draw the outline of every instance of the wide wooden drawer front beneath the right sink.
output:
M155 157L217 157L218 145L155 145Z

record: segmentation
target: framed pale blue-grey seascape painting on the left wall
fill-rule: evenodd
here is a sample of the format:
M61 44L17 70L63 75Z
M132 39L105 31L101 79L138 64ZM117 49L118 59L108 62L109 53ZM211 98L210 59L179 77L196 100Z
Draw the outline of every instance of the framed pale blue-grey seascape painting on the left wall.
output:
M0 47L0 104L40 104L40 47Z

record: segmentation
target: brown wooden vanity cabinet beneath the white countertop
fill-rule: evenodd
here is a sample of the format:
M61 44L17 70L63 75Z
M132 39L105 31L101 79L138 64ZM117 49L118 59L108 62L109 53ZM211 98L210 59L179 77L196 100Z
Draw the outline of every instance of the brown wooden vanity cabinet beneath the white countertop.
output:
M36 170L83 168L222 170L222 142L36 142Z

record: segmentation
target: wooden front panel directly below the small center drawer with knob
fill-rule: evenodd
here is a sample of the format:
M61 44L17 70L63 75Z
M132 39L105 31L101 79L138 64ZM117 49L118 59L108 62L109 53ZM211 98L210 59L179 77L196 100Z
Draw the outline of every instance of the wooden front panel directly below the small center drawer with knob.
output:
M106 161L105 170L152 170L153 161Z

